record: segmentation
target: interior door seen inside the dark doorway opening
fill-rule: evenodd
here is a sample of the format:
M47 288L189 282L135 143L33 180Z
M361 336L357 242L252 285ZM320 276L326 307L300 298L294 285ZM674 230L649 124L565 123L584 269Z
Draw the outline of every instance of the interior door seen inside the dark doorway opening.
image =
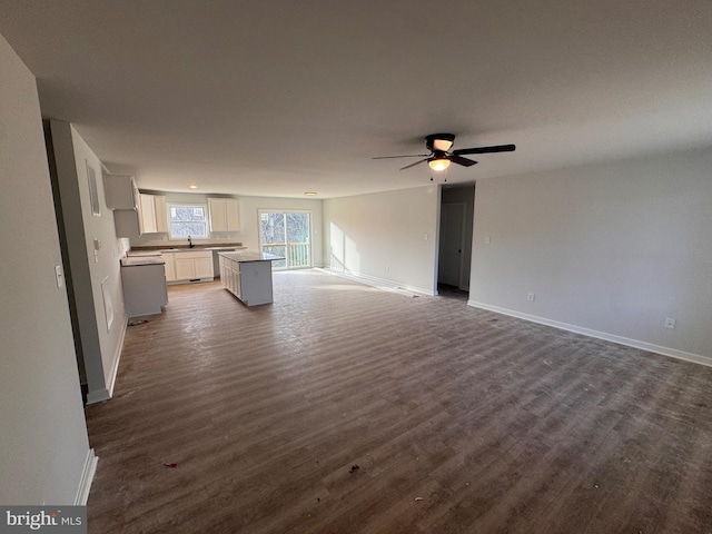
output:
M441 248L438 255L438 284L459 287L463 271L465 204L441 206Z

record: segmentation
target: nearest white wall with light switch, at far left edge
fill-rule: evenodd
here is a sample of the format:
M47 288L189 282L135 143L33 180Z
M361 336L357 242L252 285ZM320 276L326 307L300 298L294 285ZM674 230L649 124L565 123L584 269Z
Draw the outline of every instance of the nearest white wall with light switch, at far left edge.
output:
M0 503L75 504L91 463L34 78L0 37Z

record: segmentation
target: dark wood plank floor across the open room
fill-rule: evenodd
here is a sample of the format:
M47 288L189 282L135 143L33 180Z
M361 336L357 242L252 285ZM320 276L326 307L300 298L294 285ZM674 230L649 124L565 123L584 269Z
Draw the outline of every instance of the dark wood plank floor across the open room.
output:
M90 533L712 533L712 368L274 280L253 309L171 287L128 328L87 408Z

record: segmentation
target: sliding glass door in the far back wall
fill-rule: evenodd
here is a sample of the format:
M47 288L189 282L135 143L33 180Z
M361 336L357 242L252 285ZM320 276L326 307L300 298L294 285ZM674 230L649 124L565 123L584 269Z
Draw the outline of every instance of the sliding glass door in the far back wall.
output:
M312 217L308 211L259 210L259 245L264 253L283 256L275 269L312 267Z

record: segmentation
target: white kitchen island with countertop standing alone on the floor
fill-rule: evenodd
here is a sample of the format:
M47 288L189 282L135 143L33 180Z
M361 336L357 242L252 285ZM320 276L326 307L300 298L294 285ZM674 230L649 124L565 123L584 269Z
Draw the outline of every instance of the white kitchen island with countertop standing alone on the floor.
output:
M247 306L273 301L271 263L285 259L268 253L218 253L222 287Z

